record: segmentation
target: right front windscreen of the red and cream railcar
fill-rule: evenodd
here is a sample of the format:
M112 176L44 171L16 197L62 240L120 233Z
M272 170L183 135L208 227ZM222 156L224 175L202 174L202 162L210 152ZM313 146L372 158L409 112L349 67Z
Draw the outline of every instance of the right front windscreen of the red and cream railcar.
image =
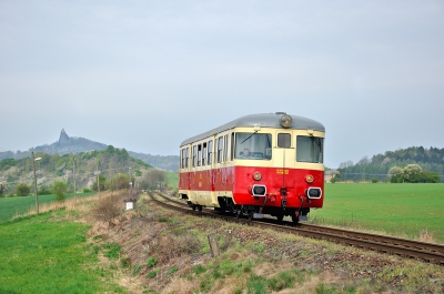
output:
M319 136L296 136L296 161L310 163L324 162L324 139Z

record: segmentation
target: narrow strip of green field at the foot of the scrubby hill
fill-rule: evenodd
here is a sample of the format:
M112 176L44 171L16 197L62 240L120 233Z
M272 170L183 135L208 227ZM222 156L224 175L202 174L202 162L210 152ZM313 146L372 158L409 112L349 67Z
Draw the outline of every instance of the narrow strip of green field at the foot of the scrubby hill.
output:
M75 193L78 197L89 196L95 192ZM67 199L73 197L73 194L67 194ZM39 205L51 203L56 195L39 195ZM11 220L16 215L22 215L30 210L36 210L36 196L26 197L1 197L0 199L0 223Z

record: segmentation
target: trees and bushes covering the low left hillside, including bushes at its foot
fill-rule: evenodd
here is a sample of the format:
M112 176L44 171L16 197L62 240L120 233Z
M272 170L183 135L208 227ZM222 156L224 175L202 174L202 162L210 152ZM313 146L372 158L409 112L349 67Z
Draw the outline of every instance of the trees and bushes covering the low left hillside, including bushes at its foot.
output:
M56 194L63 199L65 193L73 192L74 176L77 190L83 192L128 189L130 183L131 187L144 190L165 186L164 171L155 170L150 164L130 156L124 149L115 149L112 145L102 151L78 154L37 152L36 158L39 159L38 178L48 180L47 183L38 183L39 195ZM92 185L91 179L95 180ZM0 161L0 196L29 195L33 193L31 182L30 158Z

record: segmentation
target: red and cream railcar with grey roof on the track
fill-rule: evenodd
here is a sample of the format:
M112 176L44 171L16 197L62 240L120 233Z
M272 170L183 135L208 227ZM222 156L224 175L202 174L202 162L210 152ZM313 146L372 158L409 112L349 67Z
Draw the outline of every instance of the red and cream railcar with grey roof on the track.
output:
M284 112L239 118L181 143L179 195L198 210L306 220L323 205L324 136Z

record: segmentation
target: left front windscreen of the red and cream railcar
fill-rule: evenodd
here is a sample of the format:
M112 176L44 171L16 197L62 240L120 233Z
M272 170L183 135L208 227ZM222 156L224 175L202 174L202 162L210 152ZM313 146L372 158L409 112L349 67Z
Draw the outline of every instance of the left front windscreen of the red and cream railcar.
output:
M245 160L271 159L271 134L236 133L235 158Z

